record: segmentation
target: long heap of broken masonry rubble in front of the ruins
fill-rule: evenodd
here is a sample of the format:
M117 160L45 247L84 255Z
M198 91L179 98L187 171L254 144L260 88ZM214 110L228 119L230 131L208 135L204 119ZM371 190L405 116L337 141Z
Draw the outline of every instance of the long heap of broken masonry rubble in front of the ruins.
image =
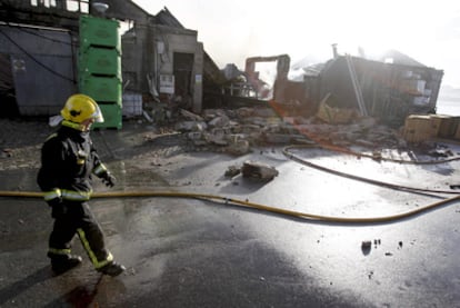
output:
M180 112L174 129L184 133L196 148L236 156L250 152L253 147L311 143L312 140L372 150L406 147L400 132L378 125L373 118L330 125L317 117L281 118L270 107L207 109L201 115Z

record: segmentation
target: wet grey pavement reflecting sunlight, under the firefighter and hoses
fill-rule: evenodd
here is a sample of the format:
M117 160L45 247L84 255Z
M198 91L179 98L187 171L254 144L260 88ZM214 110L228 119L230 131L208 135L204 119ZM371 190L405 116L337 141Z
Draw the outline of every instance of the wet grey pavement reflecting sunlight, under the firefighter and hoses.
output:
M7 123L9 125L9 123ZM12 123L0 147L0 190L37 191L44 123ZM32 131L27 127L33 127ZM22 133L21 140L12 132ZM380 217L457 195L413 193L327 173L288 159L281 147L232 157L190 151L179 136L130 122L93 132L118 178L113 191L198 192L301 212ZM449 145L452 151L459 147ZM460 161L414 166L318 149L296 153L336 170L447 190ZM269 182L223 175L253 160ZM97 183L97 191L109 191ZM91 201L108 247L127 271L97 274L88 258L53 277L46 257L52 220L40 199L0 198L1 307L459 307L460 203L389 223L340 223L184 198ZM362 248L362 241L371 241ZM84 256L78 240L74 251Z

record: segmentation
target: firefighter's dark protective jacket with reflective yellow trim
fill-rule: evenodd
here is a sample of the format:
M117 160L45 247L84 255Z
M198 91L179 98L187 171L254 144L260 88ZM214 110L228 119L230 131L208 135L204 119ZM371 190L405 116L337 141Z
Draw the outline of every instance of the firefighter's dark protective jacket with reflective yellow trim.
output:
M93 148L89 131L80 131L62 122L41 149L41 168L37 182L44 192L44 200L57 197L86 201L92 192L91 175L107 172Z

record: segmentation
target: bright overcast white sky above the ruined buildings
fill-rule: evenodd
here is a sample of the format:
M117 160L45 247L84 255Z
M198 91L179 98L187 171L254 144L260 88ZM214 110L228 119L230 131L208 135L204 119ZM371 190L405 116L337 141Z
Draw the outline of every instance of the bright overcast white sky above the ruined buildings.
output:
M134 0L151 14L167 7L223 68L253 56L288 53L324 61L340 53L397 49L444 71L460 88L460 1L416 0Z

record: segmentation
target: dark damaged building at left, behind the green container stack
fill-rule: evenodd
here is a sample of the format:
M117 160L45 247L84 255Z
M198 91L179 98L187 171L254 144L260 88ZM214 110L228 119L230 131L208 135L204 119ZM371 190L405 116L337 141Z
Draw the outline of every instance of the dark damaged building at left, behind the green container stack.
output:
M202 110L203 85L219 82L221 74L197 40L198 32L186 29L167 8L152 16L124 0L1 1L3 110L56 115L69 95L81 91L84 16L116 21L118 34L127 30L119 49L120 73L110 76L114 82L101 82L101 89L116 85L122 90L123 115L141 115L146 98ZM106 27L100 24L94 30L99 33Z

